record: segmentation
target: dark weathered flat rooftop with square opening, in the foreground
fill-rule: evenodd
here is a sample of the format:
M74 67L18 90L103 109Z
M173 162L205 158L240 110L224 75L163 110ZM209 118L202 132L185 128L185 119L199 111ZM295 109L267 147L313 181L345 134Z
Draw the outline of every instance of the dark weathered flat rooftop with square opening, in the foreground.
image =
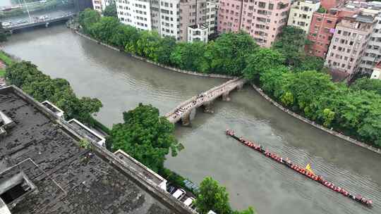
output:
M16 87L0 89L0 111L16 122L0 139L0 195L11 213L193 213L109 151L80 148L43 108Z

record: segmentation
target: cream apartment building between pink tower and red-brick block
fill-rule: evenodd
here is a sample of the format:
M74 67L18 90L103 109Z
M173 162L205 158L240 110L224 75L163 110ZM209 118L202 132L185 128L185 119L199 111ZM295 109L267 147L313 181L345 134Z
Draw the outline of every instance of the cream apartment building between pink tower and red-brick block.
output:
M310 30L313 13L320 8L320 0L294 1L289 13L287 25L300 27L304 32Z

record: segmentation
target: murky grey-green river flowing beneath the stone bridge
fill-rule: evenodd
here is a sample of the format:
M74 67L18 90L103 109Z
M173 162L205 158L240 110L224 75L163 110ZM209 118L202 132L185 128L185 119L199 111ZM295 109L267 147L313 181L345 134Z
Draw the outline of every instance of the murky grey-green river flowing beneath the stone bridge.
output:
M97 118L111 127L138 103L162 114L225 80L193 77L143 63L79 37L63 26L13 34L4 50L32 61L46 74L68 80L80 96L104 104ZM216 101L214 114L198 111L192 127L176 126L185 149L168 156L166 166L199 183L212 176L226 186L234 208L259 213L381 213L381 156L332 137L279 111L250 87ZM224 130L260 142L375 207L335 193L226 137Z

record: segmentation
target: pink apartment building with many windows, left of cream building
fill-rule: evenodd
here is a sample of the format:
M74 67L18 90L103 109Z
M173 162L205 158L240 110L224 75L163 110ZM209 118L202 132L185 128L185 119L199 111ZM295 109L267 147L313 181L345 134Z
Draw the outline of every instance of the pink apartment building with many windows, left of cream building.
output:
M291 0L221 0L218 32L248 32L260 46L270 47L287 24Z

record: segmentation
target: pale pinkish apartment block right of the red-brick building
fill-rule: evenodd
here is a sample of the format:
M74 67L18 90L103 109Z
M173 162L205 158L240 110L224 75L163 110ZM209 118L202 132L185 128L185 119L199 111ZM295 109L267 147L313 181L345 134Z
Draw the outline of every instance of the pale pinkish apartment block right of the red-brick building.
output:
M325 65L349 73L351 77L357 73L373 31L373 23L370 15L356 14L343 18L334 31Z

